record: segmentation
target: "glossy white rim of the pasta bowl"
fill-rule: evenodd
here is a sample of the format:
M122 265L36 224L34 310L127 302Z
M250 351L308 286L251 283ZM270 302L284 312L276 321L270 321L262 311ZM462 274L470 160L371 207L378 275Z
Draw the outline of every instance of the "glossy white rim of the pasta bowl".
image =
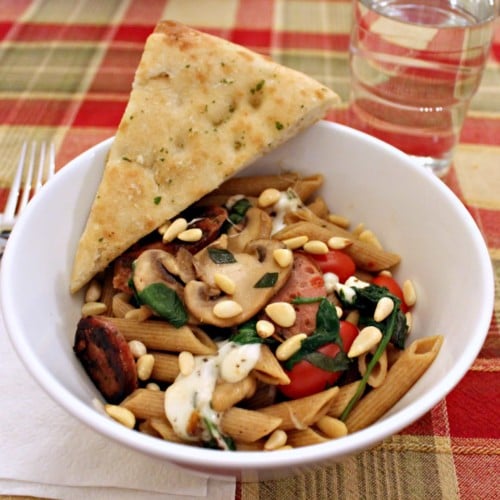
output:
M101 150L106 151L113 141L113 137L110 137L92 146L68 162L64 168L58 171L53 181L42 188L42 191L32 200L32 202L30 202L25 213L23 213L23 216L14 227L2 259L3 269L0 273L0 305L3 311L8 337L27 371L57 404L91 429L119 443L125 444L131 449L168 460L178 465L184 465L188 468L195 467L200 468L200 470L206 470L208 467L215 471L220 470L226 471L228 474L233 474L237 471L250 469L276 470L295 466L302 467L319 461L334 461L335 459L345 458L348 455L369 449L387 437L401 431L436 406L439 401L449 394L464 377L474 359L477 357L488 333L494 307L493 268L479 228L463 203L440 179L417 165L409 156L400 150L346 125L320 121L316 125L310 127L309 130L312 130L312 133L314 133L315 128L326 129L329 133L331 132L343 136L354 136L354 138L364 142L372 143L377 148L384 149L387 154L398 157L398 160L407 168L413 169L416 175L426 177L429 186L433 186L434 189L441 192L441 195L446 198L447 202L451 203L454 209L460 213L463 223L469 227L474 237L477 250L482 257L480 264L484 278L482 283L486 300L482 304L480 321L477 325L477 331L481 334L475 335L474 342L469 346L469 349L463 353L460 363L456 363L453 369L446 373L431 391L425 395L419 396L415 401L409 403L404 410L386 417L384 421L375 422L368 428L339 438L335 440L335 442L330 441L327 443L305 446L300 448L300 452L296 450L284 450L279 454L279 459L272 453L257 451L221 453L220 450L196 448L196 453L193 453L193 448L190 446L168 441L165 442L158 438L138 433L134 430L131 431L123 426L116 425L116 422L112 421L106 415L99 415L95 410L91 409L88 404L81 401L62 386L61 383L38 361L26 339L22 335L16 335L16 332L20 330L20 325L16 316L11 313L11 311L14 310L14 302L8 290L10 286L9 283L15 279L15 276L10 272L12 269L11 263L15 259L15 248L17 245L22 245L20 235L22 234L24 225L29 221L29 214L37 210L38 205L43 203L44 198L50 195L51 186L63 182L64 177L66 175L71 175L72 171L78 168L79 164L84 161L87 156L92 157L95 152Z

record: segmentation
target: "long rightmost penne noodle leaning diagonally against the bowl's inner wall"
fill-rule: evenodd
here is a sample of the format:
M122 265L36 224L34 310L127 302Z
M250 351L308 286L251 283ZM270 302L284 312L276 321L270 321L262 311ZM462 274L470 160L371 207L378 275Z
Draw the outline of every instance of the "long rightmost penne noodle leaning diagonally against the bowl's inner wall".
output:
M431 365L443 340L435 335L412 342L388 371L385 382L354 406L345 420L349 432L364 429L392 408Z

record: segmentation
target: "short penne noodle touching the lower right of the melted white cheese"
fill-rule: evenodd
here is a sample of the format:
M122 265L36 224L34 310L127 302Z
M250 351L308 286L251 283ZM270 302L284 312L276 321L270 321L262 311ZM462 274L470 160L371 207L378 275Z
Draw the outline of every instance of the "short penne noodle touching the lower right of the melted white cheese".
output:
M236 441L253 443L267 436L281 424L281 418L261 411L245 410L233 406L222 414L222 432Z

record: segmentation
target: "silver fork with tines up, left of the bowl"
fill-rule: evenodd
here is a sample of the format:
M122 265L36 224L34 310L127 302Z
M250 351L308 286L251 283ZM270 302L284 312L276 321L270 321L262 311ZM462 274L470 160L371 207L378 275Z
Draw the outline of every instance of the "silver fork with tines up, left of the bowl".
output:
M29 155L28 149L30 149ZM38 161L36 161L37 158ZM35 162L37 163L36 166ZM36 141L33 141L31 147L28 148L28 142L25 141L21 147L19 163L17 164L5 210L0 214L0 256L3 254L7 238L17 218L26 208L29 200L40 191L43 184L53 177L54 172L54 144L50 143L47 147L47 144L42 142L40 147L37 148Z

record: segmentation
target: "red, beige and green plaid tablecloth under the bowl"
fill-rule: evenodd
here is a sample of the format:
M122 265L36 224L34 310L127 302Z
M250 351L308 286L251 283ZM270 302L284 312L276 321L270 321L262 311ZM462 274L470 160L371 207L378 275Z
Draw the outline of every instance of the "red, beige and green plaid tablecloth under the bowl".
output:
M350 15L346 0L0 0L0 208L26 137L54 141L59 169L114 134L143 43L159 19L269 54L347 102ZM343 109L329 118L343 121ZM444 182L481 229L498 286L500 21ZM500 498L499 315L497 299L472 368L418 422L341 464L238 484L237 498Z

